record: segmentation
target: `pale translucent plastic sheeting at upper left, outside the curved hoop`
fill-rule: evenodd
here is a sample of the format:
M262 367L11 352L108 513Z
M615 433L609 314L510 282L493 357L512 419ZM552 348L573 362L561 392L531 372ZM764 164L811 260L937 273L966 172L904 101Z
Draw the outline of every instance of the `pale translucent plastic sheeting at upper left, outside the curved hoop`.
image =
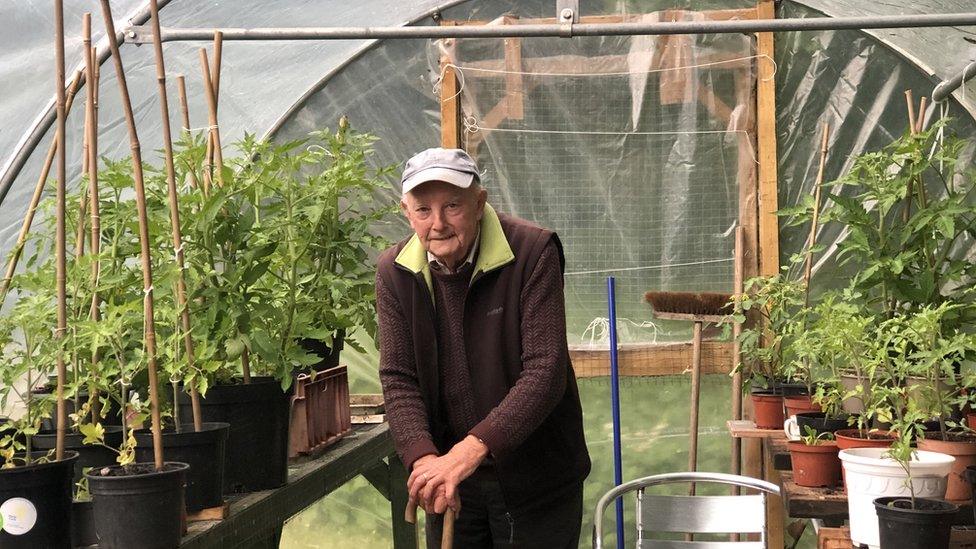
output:
M310 24L403 25L428 13L443 0L397 2L363 0L290 0L233 2L172 0L160 11L163 26L254 27L302 26ZM80 3L68 2L65 10L66 63L69 77L81 59ZM124 28L133 11L146 5L112 2L117 29ZM93 10L92 30L97 42L104 36L97 2L85 3ZM14 145L29 131L30 123L47 107L54 90L53 11L48 1L5 2L0 6L0 166L7 163ZM295 101L322 76L346 61L362 40L315 42L231 42L223 47L220 78L220 125L226 143L245 131L263 134ZM173 128L181 126L174 76L186 77L191 126L207 125L200 61L197 49L212 49L210 42L167 42L163 45L169 77L170 118ZM151 46L121 46L126 80L132 96L142 149L148 162L159 162L151 154L162 148L162 129ZM99 105L99 154L111 158L127 156L129 143L119 103L118 84L111 61L102 65ZM84 88L68 116L68 175L76 182L81 167L81 133L84 122ZM9 250L17 237L34 184L51 143L52 130L41 140L3 201L0 214L0 250ZM53 177L53 174L52 174Z

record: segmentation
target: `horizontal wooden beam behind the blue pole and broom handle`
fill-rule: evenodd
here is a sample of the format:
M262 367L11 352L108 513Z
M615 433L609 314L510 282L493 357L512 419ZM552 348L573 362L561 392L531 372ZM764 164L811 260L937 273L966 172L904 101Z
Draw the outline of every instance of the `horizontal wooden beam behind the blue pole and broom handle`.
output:
M622 376L683 375L691 366L692 344L620 345L618 366ZM606 348L571 347L570 359L576 377L610 375L610 357ZM702 342L702 373L728 374L732 365L732 344L727 341Z

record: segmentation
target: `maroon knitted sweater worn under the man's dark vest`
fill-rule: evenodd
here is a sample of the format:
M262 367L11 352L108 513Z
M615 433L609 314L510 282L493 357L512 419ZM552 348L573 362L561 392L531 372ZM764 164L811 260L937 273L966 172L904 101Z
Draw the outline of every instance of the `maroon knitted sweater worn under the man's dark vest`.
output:
M523 315L523 373L517 387L486 417L475 411L476 387L472 386L461 319L472 266L450 274L432 269L437 322L437 352L441 378L439 413L455 442L467 434L486 441L492 454L517 447L549 415L566 390L565 364L558 359L565 345L565 305L559 251L549 242L542 252L521 296ZM388 412L398 419L393 436L403 452L405 465L425 454L438 454L430 435L430 422L415 386L399 384L384 371L411 373L414 350L409 343L407 318L382 277L376 280L377 310L380 312L381 377ZM400 318L397 318L400 317ZM396 404L394 404L396 403ZM391 406L392 405L392 406ZM496 442L497 441L497 442ZM495 446L495 447L493 447Z

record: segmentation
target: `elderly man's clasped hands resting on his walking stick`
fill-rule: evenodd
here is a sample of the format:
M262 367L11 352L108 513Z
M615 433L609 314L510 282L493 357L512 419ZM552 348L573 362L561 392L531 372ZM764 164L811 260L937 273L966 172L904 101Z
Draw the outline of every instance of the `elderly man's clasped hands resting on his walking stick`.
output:
M428 513L440 514L448 507L460 512L458 484L471 476L487 455L488 447L468 435L443 456L428 454L419 458L407 479L410 503L420 505Z

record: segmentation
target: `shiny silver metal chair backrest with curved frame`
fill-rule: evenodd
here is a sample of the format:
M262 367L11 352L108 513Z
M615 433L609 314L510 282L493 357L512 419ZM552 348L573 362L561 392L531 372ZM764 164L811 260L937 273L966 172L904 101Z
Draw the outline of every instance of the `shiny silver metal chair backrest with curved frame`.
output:
M668 496L645 493L645 488L673 483L720 483L758 490L740 496ZM606 507L629 492L637 492L638 548L654 549L765 549L766 494L779 494L768 482L724 473L667 473L639 478L608 491L597 503L593 520L593 547L603 547ZM646 537L651 532L690 534L759 534L757 542L668 541Z

